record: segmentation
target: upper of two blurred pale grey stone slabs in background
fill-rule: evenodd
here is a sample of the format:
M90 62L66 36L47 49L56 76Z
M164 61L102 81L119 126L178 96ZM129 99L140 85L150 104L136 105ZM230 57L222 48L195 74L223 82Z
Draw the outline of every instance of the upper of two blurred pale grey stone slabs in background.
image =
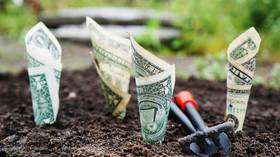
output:
M150 20L159 20L163 26L172 26L179 17L165 11L125 7L68 8L56 13L43 13L39 20L48 27L82 24L89 16L100 24L144 25Z

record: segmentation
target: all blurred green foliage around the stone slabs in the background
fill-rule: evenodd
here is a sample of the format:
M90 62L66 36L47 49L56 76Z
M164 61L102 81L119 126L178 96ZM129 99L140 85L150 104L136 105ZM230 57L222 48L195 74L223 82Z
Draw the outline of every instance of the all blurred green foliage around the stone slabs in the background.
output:
M67 7L126 6L170 11L181 18L174 27L182 30L179 39L160 43L151 32L160 27L155 19L147 23L151 30L139 37L141 44L165 54L206 55L225 51L229 43L251 26L262 37L259 58L280 59L279 0L45 0L44 10ZM0 10L0 31L18 36L34 24L34 15L26 7L7 5ZM271 57L273 55L273 57Z

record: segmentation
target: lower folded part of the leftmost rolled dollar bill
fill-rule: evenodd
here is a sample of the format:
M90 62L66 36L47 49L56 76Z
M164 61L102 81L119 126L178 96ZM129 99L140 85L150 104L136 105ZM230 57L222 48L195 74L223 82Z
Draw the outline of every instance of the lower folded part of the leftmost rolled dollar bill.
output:
M58 110L58 95L52 94L57 89L54 73L47 66L28 68L32 103L36 124L51 124L55 122L55 111Z

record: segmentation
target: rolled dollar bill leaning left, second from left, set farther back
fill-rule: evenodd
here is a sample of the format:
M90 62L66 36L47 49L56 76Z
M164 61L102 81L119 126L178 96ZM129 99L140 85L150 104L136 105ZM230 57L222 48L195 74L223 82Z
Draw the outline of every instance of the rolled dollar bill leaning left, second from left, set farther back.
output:
M130 100L130 42L128 39L109 34L89 17L86 18L86 23L91 32L93 63L102 81L109 112L114 117L123 119Z

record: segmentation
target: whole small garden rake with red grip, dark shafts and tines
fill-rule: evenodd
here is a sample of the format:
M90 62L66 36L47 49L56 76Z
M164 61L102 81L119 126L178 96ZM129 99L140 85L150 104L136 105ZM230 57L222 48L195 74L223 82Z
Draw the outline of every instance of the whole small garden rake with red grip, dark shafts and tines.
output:
M233 131L231 123L207 127L197 112L197 103L188 91L178 93L174 100L181 110L176 104L172 104L171 111L191 133L179 139L184 151L191 151L199 156L211 156L218 152L226 156L230 153L231 143L226 133Z

